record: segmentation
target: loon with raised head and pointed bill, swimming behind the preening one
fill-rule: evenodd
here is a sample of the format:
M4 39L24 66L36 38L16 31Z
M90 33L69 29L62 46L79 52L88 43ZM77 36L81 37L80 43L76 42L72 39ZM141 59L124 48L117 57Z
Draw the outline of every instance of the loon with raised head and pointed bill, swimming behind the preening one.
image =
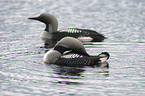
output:
M49 13L42 13L38 17L31 17L28 19L37 20L43 22L46 25L45 30L41 33L41 39L45 44L47 44L50 39L59 41L66 36L91 42L101 42L106 39L106 37L104 37L102 34L89 29L67 28L63 30L57 30L58 21L55 16Z

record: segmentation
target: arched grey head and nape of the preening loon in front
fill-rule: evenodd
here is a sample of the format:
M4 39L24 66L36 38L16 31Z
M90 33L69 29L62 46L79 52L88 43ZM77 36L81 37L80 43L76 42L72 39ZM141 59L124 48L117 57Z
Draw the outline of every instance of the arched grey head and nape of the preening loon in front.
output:
M86 52L83 44L76 38L64 37L56 44L56 46L58 46L58 45L66 46L66 48L69 48L74 53L89 56L89 54Z

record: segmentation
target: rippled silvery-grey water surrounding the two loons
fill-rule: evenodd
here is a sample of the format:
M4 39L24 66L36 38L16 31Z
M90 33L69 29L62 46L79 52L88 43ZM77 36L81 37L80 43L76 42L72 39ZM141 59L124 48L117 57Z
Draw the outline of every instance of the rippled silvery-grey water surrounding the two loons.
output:
M1 0L1 96L144 96L144 0ZM98 30L108 39L85 45L111 54L109 68L45 65L40 32L27 18L49 12L68 27Z

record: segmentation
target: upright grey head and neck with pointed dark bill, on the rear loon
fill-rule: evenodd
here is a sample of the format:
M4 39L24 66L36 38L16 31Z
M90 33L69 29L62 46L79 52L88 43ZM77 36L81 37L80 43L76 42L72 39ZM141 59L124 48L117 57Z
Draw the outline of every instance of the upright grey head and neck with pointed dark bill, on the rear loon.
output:
M57 21L55 16L53 16L49 13L42 13L38 17L31 17L31 18L28 18L28 19L38 20L40 22L43 22L46 25L45 31L57 32L58 21Z

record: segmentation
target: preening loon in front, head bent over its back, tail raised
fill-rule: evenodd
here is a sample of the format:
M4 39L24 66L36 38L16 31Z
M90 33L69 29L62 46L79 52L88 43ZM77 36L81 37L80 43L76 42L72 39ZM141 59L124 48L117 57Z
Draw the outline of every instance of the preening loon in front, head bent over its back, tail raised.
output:
M47 51L43 57L44 63L60 66L83 67L100 66L110 57L108 52L102 52L97 56L90 56L83 44L74 37L64 37ZM108 67L108 65L105 65Z

